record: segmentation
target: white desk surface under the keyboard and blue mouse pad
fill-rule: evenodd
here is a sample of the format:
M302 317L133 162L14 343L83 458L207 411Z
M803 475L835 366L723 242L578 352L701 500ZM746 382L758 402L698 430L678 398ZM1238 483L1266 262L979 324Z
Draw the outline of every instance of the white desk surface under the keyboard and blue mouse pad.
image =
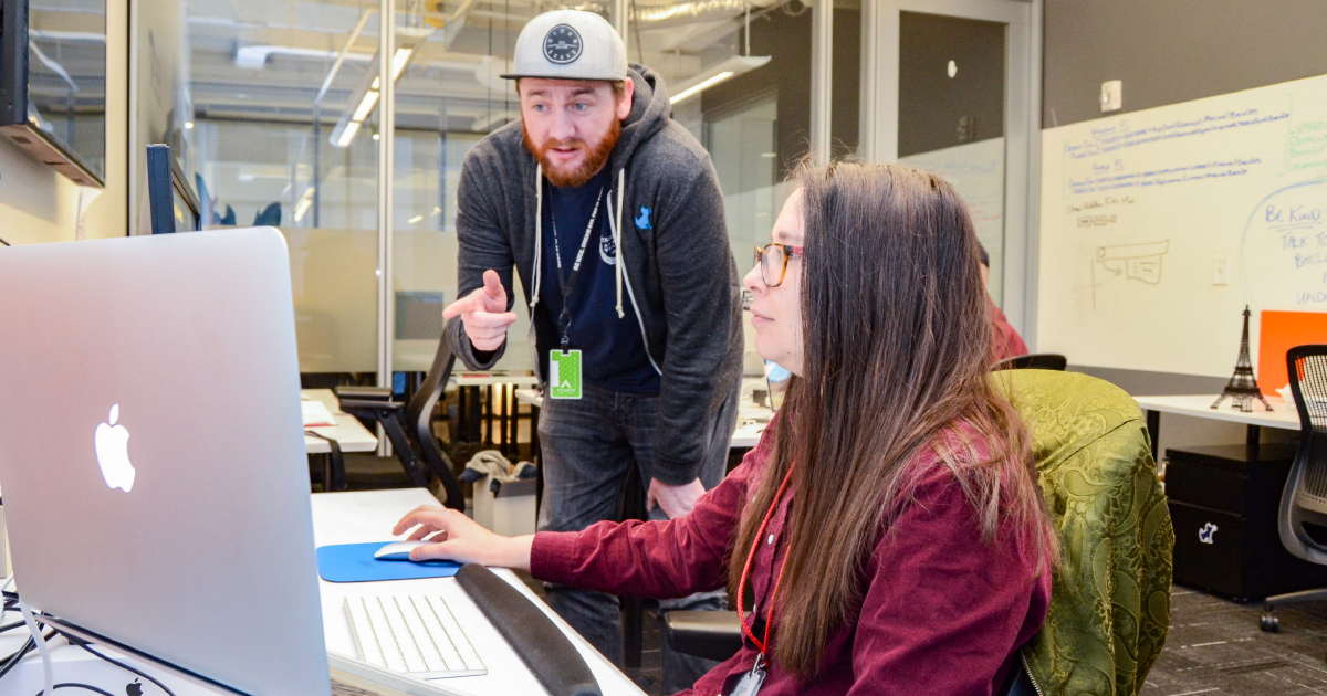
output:
M349 493L313 494L313 540L318 546L328 544L365 544L390 541L391 526L419 505L437 505L438 500L422 488L405 491L362 491ZM585 658L600 689L605 696L644 696L644 692L598 654L584 638L571 628L552 609L539 599L516 575L506 569L494 569L522 594L548 615L567 634L576 650ZM384 593L438 593L466 628L466 635L479 651L488 673L443 680L451 689L474 695L545 693L520 658L498 635L479 609L470 601L455 578L333 583L318 579L322 594L322 628L328 650L354 655L350 624L345 618L345 598Z

